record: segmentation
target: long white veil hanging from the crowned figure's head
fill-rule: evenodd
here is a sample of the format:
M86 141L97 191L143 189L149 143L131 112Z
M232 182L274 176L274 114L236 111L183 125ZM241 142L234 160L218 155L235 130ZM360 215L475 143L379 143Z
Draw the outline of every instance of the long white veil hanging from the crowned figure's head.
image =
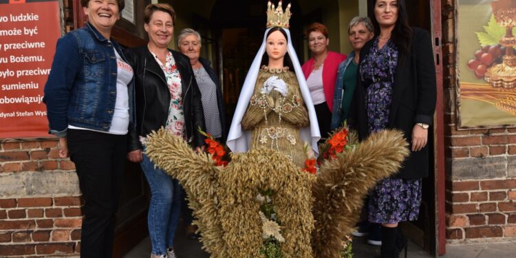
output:
M267 33L271 28L268 28L264 34L264 41L261 43L261 47L258 50L258 53L255 56L255 60L252 61L252 65L249 69L249 72L246 76L246 80L244 81L244 85L242 86L242 90L240 92L240 96L238 98L237 108L235 109L235 115L233 116L233 121L231 122L231 126L228 134L228 141L226 144L229 149L235 153L246 152L249 150L249 143L251 138L250 131L244 131L241 126L242 118L246 113L247 107L249 105L252 93L255 90L256 80L258 78L258 72L261 65L261 58L264 56L266 49L266 41L267 41ZM303 75L303 71L301 70L301 65L299 64L299 60L297 59L297 54L292 47L292 39L290 39L290 31L286 28L282 28L287 33L287 52L292 60L292 65L294 66L294 73L296 74L297 81L299 83L299 88L301 89L301 95L303 96L303 100L305 102L306 108L308 109L308 118L310 118L310 125L308 127L301 128L300 136L303 142L310 142L312 144L312 149L315 155L319 155L319 148L317 147L317 141L321 139L321 133L319 132L319 124L317 123L317 117L315 115L314 104L312 103L312 97L310 96L310 90L306 85L305 76Z

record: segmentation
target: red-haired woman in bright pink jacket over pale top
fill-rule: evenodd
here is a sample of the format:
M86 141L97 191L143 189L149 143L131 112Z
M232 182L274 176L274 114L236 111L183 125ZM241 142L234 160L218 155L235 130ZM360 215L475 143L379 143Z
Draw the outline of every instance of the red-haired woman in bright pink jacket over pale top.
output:
M333 92L338 65L346 59L345 54L328 51L328 29L321 23L312 23L306 30L312 58L301 67L319 122L321 140L330 133L332 123Z

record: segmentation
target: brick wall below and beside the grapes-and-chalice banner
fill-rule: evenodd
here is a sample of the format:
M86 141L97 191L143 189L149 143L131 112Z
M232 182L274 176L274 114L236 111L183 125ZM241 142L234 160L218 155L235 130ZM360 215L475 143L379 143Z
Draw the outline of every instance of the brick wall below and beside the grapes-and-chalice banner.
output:
M447 239L516 239L516 129L457 128L455 3L442 0Z

